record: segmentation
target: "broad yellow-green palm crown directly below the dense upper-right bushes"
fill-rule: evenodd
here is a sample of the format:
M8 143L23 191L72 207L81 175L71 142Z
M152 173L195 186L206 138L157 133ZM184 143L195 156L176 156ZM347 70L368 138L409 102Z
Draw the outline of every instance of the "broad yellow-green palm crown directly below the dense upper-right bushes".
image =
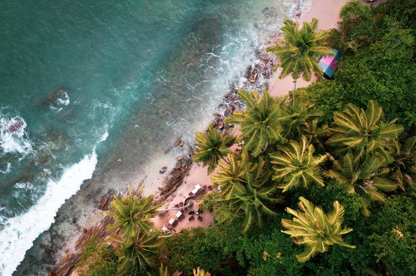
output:
M344 111L334 113L333 120L327 129L331 135L329 145L339 147L341 152L351 150L356 158L371 153L392 162L392 141L403 127L395 124L396 120L384 122L383 109L374 100L368 102L366 111L348 104Z

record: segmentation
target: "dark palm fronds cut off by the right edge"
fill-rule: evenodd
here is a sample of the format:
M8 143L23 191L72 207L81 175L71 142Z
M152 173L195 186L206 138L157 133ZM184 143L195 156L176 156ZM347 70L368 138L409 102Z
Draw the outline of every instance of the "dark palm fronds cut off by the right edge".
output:
M403 143L393 140L395 154L390 165L389 178L395 181L404 192L416 196L416 137L407 138Z

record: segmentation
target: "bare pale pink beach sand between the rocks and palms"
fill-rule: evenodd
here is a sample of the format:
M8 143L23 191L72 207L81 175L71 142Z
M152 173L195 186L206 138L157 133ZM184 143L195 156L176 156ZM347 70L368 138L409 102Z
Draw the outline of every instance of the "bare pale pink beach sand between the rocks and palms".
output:
M313 17L320 19L319 28L322 30L329 30L331 28L338 28L338 14L340 8L345 5L349 0L313 0L311 5L311 10L306 12L305 15L301 15L300 23L303 21L311 21ZM285 77L283 80L278 78L279 71L274 74L274 80L271 80L271 89L270 93L274 96L286 95L289 91L292 91L294 88L293 78ZM311 80L313 82L315 80ZM311 82L306 82L302 79L297 80L297 88L308 86ZM234 129L232 133L237 136L239 134L238 129ZM235 146L232 148L235 150ZM163 164L161 164L163 165ZM160 194L160 187L162 187L164 180L161 174L157 172L159 167L153 168L153 174L150 178L146 179L146 194L155 194L156 199ZM200 202L195 199L187 200L189 198L189 192L194 190L196 185L200 187L206 187L207 192L209 192L208 187L212 186L214 183L209 178L207 174L207 167L202 167L201 164L193 163L191 169L187 173L187 176L184 177L182 185L177 187L177 190L166 197L166 203L161 208L161 210L168 209L164 214L159 215L153 218L155 227L157 229L171 228L171 233L180 232L184 228L193 228L193 227L202 227L206 228L213 225L213 214L209 211L205 211L199 215L192 215L189 212L196 212L199 209ZM183 210L182 206L185 201L191 203L193 206ZM173 210L171 210L173 209ZM182 210L184 213L184 218L177 221L177 212ZM190 217L194 217L189 220ZM200 219L198 219L200 217ZM172 228L169 221L174 219L177 221L177 225ZM174 230L173 230L174 229ZM77 274L73 272L71 275L76 276Z

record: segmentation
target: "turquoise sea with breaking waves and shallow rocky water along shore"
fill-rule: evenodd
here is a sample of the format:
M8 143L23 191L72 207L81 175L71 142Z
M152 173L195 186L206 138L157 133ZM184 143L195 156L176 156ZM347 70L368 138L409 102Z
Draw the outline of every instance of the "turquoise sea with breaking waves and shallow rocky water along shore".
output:
M69 243L109 192L146 174L157 185L297 5L11 2L0 3L0 275L44 275L56 255L40 243Z

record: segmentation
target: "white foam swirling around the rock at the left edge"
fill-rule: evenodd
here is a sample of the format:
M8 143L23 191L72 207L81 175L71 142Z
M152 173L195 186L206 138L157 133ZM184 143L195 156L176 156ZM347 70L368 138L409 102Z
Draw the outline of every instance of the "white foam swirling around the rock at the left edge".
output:
M11 133L9 127L18 122L21 123L21 127ZM0 154L18 153L26 155L32 151L31 140L26 134L26 127L25 120L20 116L10 118L2 116L0 113Z

